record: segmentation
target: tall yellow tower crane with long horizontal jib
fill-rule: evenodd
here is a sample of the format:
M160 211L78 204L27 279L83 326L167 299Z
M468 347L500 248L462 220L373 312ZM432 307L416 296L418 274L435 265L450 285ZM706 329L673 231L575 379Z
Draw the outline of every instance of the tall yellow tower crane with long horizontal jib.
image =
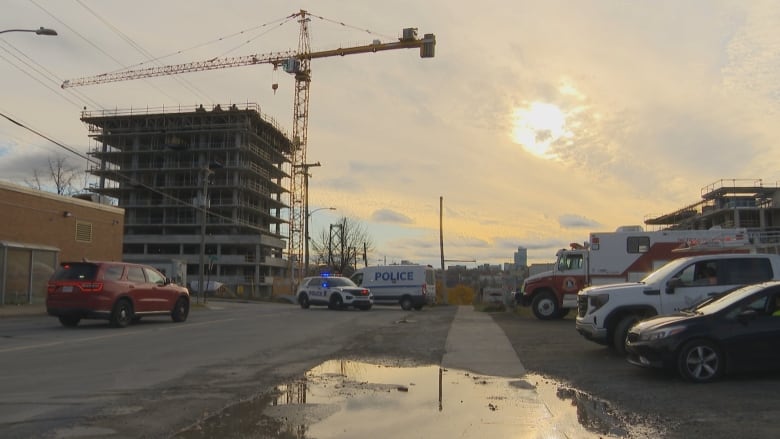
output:
M297 263L300 264L302 260L303 241L306 239L306 237L303 236L304 222L306 221L306 212L304 211L304 199L306 198L306 194L304 193L306 187L304 179L306 177L306 170L303 165L306 163L306 146L308 142L307 131L309 120L311 60L332 56L356 55L359 53L376 53L385 50L413 48L420 49L421 58L433 58L436 47L436 37L434 34L425 34L423 38L418 38L416 28L406 28L403 29L402 36L398 41L383 43L379 40L374 40L371 44L366 45L339 47L337 49L312 52L309 40L309 15L310 14L307 11L301 9L299 12L290 16L290 18L297 17L297 20L300 23L300 36L297 51L213 58L207 61L104 73L96 76L70 79L62 83L62 88L80 87L132 79L175 75L179 73L242 67L253 64L271 64L274 69L281 66L285 72L294 75L295 102L293 106L292 131L293 152L290 158L292 166L290 171L290 236L288 239L288 257L291 278L296 278L298 280L301 279L303 273L299 269L297 276L294 274L295 263L297 261Z

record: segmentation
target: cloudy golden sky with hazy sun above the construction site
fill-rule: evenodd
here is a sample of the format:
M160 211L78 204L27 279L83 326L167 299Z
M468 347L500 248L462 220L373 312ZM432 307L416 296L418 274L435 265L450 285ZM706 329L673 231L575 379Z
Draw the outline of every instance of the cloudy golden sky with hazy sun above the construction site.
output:
M358 221L369 264L440 267L440 224L447 266L508 263L520 246L529 264L551 262L722 179L780 180L780 2L460 3L2 0L0 31L58 35L0 34L0 113L27 127L0 118L0 179L25 185L57 156L85 166L60 146L89 150L84 107L250 102L291 132L295 81L268 64L59 85L295 50L288 17L306 10L312 50L408 27L436 36L432 59L403 49L311 62L306 161L322 165L310 169L311 235Z

